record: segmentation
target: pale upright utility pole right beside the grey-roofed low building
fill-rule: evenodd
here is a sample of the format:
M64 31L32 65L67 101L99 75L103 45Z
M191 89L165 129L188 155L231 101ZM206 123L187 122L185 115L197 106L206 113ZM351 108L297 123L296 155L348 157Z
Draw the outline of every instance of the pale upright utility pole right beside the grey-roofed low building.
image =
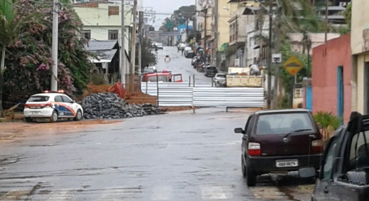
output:
M125 27L124 27L124 20L125 20L125 13L124 13L124 0L122 0L122 19L121 19L121 83L123 86L126 86L125 83Z

